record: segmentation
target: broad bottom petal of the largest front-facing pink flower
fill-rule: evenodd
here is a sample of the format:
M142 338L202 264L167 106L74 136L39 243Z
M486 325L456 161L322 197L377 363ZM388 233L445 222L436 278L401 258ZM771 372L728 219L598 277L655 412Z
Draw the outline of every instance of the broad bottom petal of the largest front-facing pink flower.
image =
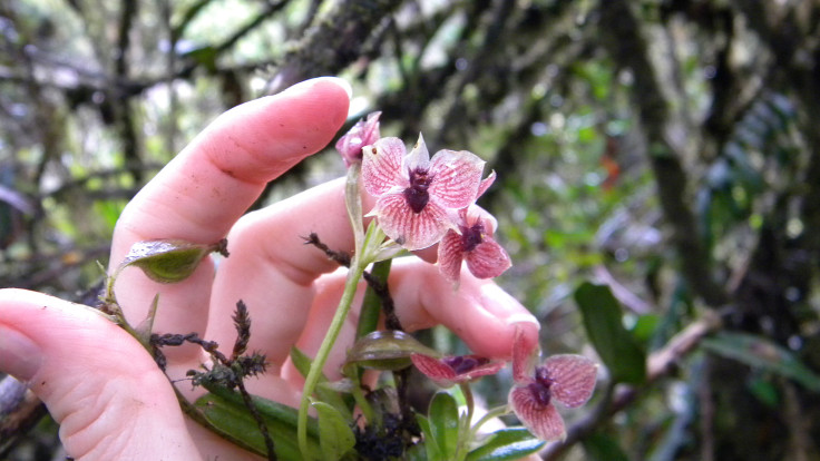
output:
M371 214L379 218L388 237L410 251L433 245L451 226L445 208L430 202L420 213L414 213L401 193L379 197Z

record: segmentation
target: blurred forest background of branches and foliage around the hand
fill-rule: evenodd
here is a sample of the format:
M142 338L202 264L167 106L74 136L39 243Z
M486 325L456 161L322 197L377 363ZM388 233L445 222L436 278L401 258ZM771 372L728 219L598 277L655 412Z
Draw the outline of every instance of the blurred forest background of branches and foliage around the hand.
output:
M820 460L814 0L6 0L0 286L92 304L129 197L321 75L353 85L350 124L498 173L499 283L547 353L605 365L544 459ZM256 206L341 175L326 149ZM48 418L0 437L59 453Z

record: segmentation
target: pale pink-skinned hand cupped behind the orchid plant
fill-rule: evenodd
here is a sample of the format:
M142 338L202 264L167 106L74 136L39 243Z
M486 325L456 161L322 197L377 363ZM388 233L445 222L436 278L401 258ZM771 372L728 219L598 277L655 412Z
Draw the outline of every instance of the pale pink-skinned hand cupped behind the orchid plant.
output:
M297 405L302 380L289 364L296 344L312 355L342 291L343 273L302 237L315 232L331 248L351 251L343 183L335 180L245 214L265 185L322 149L341 128L350 90L314 79L218 117L126 207L117 223L111 266L130 246L154 238L213 243L228 238L231 256L212 261L174 285L126 269L116 294L131 324L159 293L156 332L199 332L225 344L235 337L238 300L251 312L250 350L266 354L269 372L248 389ZM341 161L341 158L340 158ZM365 209L369 202L365 198ZM467 271L458 291L430 264L435 251L396 262L390 276L397 313L409 330L443 324L476 353L508 359L516 327L535 345L538 323L509 294ZM351 343L353 312L329 361L338 375ZM168 375L182 379L206 357L195 346L166 349ZM29 384L60 423L78 460L257 459L183 415L168 377L125 331L97 313L41 293L0 290L0 371ZM178 389L188 396L191 385Z

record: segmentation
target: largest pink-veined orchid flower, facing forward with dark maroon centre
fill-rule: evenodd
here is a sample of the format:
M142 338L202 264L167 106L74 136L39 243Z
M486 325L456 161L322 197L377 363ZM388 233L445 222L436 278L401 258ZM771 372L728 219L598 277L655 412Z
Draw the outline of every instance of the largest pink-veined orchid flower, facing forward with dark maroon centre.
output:
M381 138L363 154L362 183L377 197L369 216L407 249L439 242L457 210L478 197L485 161L472 153L439 150L431 159L419 136L410 154L399 138Z

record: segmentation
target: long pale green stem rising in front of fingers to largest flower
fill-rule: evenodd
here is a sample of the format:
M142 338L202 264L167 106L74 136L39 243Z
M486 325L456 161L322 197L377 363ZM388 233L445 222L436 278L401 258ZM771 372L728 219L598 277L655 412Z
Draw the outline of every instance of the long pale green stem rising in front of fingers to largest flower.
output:
M322 345L319 347L319 352L316 352L315 359L313 359L311 370L308 372L308 377L305 377L304 389L302 390L296 437L299 439L299 449L302 451L302 455L305 460L310 460L311 455L308 450L308 410L311 404L310 398L316 389L319 377L322 375L322 369L328 362L330 350L333 347L333 344L335 344L336 339L339 337L339 332L342 331L342 325L344 325L344 320L348 317L348 313L350 313L350 306L353 303L353 296L355 295L355 290L362 277L364 267L367 267L367 262L361 261L359 255L357 255L350 266L348 279L344 284L344 293L342 293L339 307L336 307L336 312L333 315L330 327L328 328L328 334L324 336Z

